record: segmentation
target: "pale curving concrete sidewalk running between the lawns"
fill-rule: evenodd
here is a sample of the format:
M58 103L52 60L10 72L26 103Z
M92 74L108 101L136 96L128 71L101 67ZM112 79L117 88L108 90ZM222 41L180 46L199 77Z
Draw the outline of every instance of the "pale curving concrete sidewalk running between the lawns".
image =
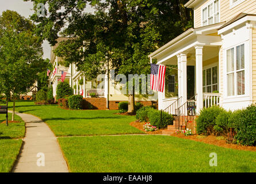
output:
M13 172L67 173L67 163L51 129L38 117L23 113L16 114L26 122L26 135ZM43 159L44 166L41 162Z

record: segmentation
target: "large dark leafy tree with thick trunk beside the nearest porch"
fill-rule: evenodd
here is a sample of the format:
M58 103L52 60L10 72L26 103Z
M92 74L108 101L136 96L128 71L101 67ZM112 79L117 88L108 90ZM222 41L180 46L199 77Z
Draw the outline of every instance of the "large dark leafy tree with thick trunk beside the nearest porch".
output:
M35 10L39 1L33 1ZM84 13L86 3L95 13ZM60 30L72 39L59 44L55 54L68 66L75 63L87 79L106 72L106 66L118 74L149 74L147 55L192 26L192 10L186 1L177 0L105 0L44 1L49 5L46 17L38 22L37 33L54 45ZM64 8L63 8L64 7ZM59 11L64 9L64 11ZM83 51L85 48L85 51ZM110 65L109 65L110 62ZM129 95L129 112L134 110L134 94Z

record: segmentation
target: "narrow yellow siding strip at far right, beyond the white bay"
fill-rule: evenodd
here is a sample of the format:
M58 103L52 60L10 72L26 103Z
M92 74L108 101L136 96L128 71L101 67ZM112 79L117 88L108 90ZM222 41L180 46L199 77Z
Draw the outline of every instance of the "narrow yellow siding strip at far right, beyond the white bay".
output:
M253 28L253 104L256 103L256 28Z

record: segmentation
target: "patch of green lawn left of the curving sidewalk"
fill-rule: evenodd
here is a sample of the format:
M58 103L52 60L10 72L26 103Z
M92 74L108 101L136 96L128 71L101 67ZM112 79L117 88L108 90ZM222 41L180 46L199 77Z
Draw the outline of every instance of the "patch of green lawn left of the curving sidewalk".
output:
M9 120L12 120L12 114L8 114ZM5 114L0 114L0 122L5 120ZM12 170L13 164L21 148L21 138L25 135L25 123L19 116L15 116L16 121L20 123L0 124L0 173L7 173Z

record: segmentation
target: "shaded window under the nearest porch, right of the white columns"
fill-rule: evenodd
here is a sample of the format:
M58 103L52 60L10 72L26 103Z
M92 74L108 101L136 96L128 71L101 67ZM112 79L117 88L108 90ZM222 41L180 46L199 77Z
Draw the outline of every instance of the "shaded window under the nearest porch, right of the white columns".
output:
M202 70L202 91L213 93L218 90L217 66Z

